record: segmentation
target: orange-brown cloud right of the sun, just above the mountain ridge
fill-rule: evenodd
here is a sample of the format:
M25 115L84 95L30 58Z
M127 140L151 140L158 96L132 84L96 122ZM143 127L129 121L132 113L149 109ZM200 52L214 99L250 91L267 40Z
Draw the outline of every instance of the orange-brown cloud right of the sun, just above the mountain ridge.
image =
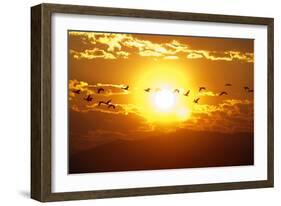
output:
M218 105L196 105L192 113L184 127L221 133L253 132L253 101L228 99Z

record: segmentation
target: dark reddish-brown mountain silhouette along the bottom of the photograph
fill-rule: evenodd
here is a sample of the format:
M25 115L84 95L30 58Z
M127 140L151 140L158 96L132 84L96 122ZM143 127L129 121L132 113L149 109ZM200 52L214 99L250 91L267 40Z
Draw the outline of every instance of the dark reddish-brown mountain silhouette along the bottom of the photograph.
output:
M71 154L69 173L252 165L252 133L187 132L116 140Z

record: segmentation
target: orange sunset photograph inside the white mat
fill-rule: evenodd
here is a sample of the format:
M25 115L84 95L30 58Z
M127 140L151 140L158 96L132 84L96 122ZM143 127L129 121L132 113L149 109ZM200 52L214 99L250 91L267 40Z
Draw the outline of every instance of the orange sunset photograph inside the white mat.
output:
M254 165L254 39L67 38L69 174Z

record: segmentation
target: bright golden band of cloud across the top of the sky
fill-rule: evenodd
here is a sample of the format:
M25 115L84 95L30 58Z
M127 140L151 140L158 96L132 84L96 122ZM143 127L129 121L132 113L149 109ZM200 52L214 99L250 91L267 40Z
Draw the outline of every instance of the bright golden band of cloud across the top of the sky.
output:
M80 37L82 42L92 45L92 49L75 51L70 54L74 59L119 59L155 57L159 59L206 59L210 61L238 61L252 63L253 53L240 51L208 51L192 49L190 45L176 40L155 43L131 34L110 34L95 32L70 32L70 36ZM172 37L171 37L172 38Z

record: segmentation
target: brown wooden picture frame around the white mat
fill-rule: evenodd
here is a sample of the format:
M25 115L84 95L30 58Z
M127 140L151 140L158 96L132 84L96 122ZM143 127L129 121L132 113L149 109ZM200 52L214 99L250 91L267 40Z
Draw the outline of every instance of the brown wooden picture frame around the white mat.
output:
M51 153L51 16L54 13L137 17L193 22L220 22L267 27L267 179L259 181L227 182L196 185L170 185L147 188L110 189L78 192L52 192ZM273 34L272 18L242 17L214 14L152 11L91 6L40 4L31 8L31 197L38 201L65 201L94 198L160 195L189 192L234 190L273 187Z

